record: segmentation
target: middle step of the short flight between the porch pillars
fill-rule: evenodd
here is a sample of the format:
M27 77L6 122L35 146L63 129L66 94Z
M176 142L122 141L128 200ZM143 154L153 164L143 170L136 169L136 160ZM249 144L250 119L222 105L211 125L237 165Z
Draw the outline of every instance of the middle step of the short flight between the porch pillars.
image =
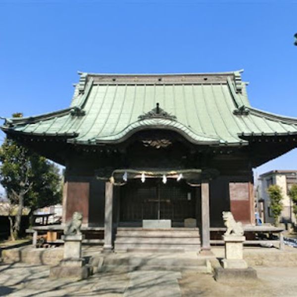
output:
M116 244L190 244L200 245L199 238L193 237L116 237Z

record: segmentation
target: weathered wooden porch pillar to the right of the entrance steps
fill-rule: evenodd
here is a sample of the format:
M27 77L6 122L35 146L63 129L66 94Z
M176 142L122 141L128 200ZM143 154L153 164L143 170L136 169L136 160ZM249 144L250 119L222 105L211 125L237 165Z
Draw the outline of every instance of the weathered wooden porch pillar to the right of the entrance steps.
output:
M209 184L201 183L202 251L210 250Z

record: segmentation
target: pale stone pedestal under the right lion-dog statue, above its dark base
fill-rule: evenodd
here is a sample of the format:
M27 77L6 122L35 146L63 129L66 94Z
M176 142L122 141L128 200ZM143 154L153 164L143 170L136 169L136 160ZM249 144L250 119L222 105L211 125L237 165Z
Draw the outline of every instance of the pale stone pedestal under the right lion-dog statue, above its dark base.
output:
M224 235L225 259L222 260L223 268L246 269L247 262L244 260L245 236Z

